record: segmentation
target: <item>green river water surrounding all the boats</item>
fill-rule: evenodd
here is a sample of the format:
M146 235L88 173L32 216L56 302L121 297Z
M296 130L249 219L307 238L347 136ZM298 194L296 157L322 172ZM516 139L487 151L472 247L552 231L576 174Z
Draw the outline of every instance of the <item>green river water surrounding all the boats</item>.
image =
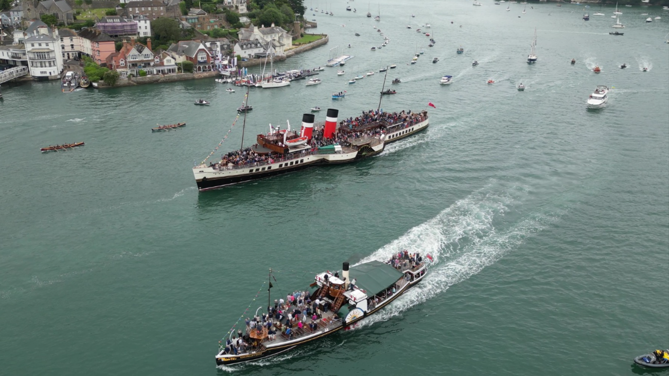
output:
M669 13L626 7L625 35L613 37L613 7L584 22L577 5L531 3L522 15L520 4L390 0L377 23L364 5L308 15L330 43L279 66L324 65L329 48L351 43L347 74L252 89L246 124L250 145L312 106L340 118L376 108L383 76L346 82L398 64L389 78L402 83L383 108L432 101L430 127L353 165L199 193L193 161L229 130L242 90L213 80L67 95L57 83L3 85L3 374L629 375L641 373L634 356L669 347ZM646 24L646 11L663 18ZM425 22L434 48L415 32ZM373 25L391 38L376 52ZM438 84L444 74L452 85ZM597 84L613 86L609 104L586 110ZM332 102L340 90L347 98ZM198 98L212 106L193 106ZM187 126L151 134L177 121ZM241 126L221 151L239 147ZM247 306L266 304L254 297L268 268L278 297L314 272L403 249L432 254L429 275L356 330L215 367L217 341Z

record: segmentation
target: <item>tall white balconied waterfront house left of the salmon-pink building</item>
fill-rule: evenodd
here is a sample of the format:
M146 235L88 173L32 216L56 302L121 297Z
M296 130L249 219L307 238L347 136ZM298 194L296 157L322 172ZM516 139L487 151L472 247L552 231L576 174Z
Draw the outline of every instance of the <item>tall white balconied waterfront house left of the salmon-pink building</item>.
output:
M63 72L58 30L39 28L39 34L23 42L28 56L30 75L35 80L58 80Z

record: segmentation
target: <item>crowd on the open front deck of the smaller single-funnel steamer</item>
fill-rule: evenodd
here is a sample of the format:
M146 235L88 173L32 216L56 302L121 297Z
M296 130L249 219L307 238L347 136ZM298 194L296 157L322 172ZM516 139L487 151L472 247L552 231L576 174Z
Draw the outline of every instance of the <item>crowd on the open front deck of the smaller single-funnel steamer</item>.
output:
M223 354L243 354L258 349L264 340L294 339L298 335L318 330L318 321L328 312L329 303L316 298L311 300L306 291L296 291L274 300L262 316L247 317L246 331L238 329L225 341Z

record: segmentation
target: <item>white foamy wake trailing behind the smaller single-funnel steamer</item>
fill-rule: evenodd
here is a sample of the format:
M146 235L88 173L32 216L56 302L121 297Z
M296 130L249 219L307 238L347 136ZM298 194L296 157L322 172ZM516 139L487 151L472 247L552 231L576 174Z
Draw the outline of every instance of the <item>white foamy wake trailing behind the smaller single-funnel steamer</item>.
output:
M494 183L493 183L494 184ZM556 217L531 215L521 218L510 227L504 225L507 213L518 215L522 201L529 195L527 187L508 187L495 192L492 186L457 201L436 217L417 225L401 238L361 260L385 262L393 254L429 254L434 262L420 284L397 298L387 308L362 320L356 328L385 321L446 291L450 286L478 274L494 264L525 239L541 231Z

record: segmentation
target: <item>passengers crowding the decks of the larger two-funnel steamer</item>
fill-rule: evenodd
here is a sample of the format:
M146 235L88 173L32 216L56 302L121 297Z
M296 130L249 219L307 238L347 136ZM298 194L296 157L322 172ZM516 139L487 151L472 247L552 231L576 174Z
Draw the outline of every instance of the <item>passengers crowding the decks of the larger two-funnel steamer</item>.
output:
M403 122L403 128L405 128L425 120L425 116L427 116L425 112L411 112L411 110L403 110L401 112L369 110L363 112L361 116L341 120L341 122L339 122L339 128L337 128L337 132L334 132L334 135L331 138L323 137L322 128L314 129L312 138L306 145L309 145L312 148L310 151L315 151L318 147L325 147L328 145L341 145L343 147L349 147L351 146L351 140L363 137L369 138L373 136L380 136L385 132L385 128L383 127L351 132L351 130L355 127L383 121L389 124ZM286 147L286 145L284 145L281 140L277 140L276 145L280 147ZM254 145L254 147L257 146L257 144ZM296 154L304 153L306 152L303 150ZM231 169L233 166L240 165L258 166L264 163L274 163L275 159L286 157L288 157L288 155L282 155L280 153L274 152L259 154L254 152L251 147L246 147L245 149L242 149L242 151L230 151L227 154L221 155L221 161L219 163L209 163L209 167L213 167L214 169L225 169L225 167L227 167Z

